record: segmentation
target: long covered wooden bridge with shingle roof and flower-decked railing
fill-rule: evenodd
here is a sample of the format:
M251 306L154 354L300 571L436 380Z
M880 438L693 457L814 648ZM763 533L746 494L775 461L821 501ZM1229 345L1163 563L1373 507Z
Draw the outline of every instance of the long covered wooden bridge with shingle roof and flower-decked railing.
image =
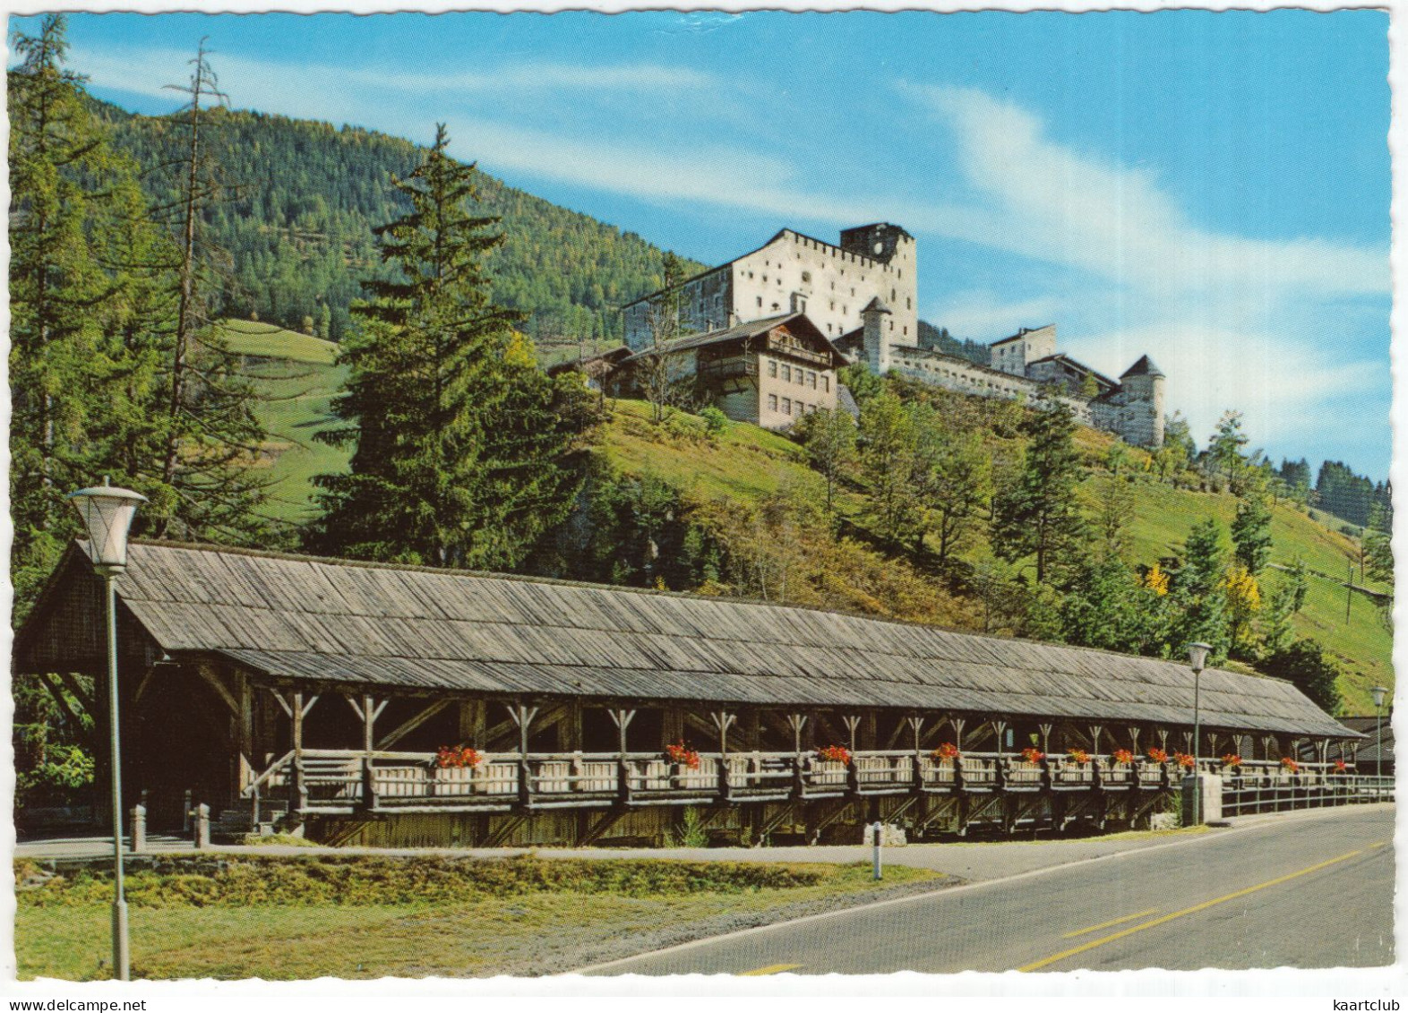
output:
M401 845L659 841L686 813L753 843L1138 826L1194 752L1193 672L1152 658L170 542L134 542L117 593L122 783L158 828L187 793L230 830ZM104 650L76 542L15 671L69 700ZM106 693L76 696L106 727ZM1238 752L1245 778L1304 783L1354 738L1288 683L1214 669L1201 727L1204 768ZM1283 769L1304 744L1318 762Z

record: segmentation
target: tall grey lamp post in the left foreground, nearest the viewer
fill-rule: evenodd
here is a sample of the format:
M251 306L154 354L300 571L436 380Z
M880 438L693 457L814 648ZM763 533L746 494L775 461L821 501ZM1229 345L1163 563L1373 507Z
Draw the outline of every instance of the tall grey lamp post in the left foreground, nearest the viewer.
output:
M131 489L103 485L80 489L69 499L87 528L93 569L103 578L107 604L107 706L113 762L113 974L118 981L131 978L127 945L127 897L122 896L122 757L118 744L117 711L117 595L113 578L127 569L127 533L137 507L146 502Z

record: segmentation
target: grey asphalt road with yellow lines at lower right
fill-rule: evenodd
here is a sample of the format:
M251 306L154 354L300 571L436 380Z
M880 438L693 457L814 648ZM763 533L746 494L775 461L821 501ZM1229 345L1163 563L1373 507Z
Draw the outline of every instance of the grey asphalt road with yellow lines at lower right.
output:
M1394 807L1269 820L587 974L1119 971L1393 964Z

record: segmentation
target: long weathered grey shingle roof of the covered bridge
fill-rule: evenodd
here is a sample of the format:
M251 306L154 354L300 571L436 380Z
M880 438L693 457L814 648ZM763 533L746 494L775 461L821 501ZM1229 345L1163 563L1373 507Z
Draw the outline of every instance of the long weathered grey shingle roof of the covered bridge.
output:
M90 572L82 544L63 566L56 583ZM801 607L170 542L134 542L117 589L172 658L220 655L275 678L1191 723L1178 662ZM54 664L27 655L34 640L15 641L20 671ZM1209 669L1201 692L1207 727L1353 734L1286 682Z

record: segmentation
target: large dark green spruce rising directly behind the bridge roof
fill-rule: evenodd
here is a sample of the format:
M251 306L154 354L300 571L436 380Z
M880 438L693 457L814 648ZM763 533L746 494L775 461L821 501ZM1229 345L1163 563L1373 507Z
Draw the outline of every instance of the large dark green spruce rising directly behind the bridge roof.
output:
M586 390L553 385L489 296L484 258L503 242L479 217L476 169L448 154L393 185L411 210L376 230L390 279L363 282L360 328L341 361L342 421L318 438L351 445L351 471L320 475L320 551L432 566L513 568L566 516Z

